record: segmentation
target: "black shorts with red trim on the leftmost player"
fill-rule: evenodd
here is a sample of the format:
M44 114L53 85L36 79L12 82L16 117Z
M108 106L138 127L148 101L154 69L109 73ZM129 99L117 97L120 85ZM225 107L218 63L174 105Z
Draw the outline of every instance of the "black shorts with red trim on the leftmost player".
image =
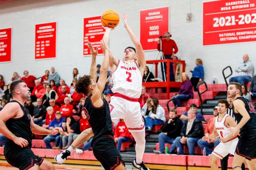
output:
M17 147L4 146L4 156L10 165L20 170L27 170L35 164L40 166L44 160L36 156L29 147L17 149Z

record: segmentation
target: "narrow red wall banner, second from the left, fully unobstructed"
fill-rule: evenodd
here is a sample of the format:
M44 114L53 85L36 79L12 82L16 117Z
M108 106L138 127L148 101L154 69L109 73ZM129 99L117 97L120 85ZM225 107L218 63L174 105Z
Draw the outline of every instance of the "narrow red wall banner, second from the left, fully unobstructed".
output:
M35 59L56 58L56 22L37 24Z

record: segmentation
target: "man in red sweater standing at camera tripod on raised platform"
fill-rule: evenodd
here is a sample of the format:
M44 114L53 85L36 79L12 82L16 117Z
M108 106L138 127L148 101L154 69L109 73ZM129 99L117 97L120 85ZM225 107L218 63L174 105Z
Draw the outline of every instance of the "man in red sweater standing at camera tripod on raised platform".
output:
M178 47L175 41L171 39L171 37L172 37L172 34L170 34L169 32L165 32L164 36L160 36L159 40L157 41L157 50L160 51L161 50L160 41L162 40L162 38L165 38L162 40L162 51L165 59L172 59L172 57L174 57L174 55L178 52ZM174 51L173 51L173 48L174 48ZM164 62L164 69L163 69L163 65L161 64L161 70L162 70L162 76L164 81L164 77L165 79L167 78L165 62ZM164 75L164 70L165 70L165 75ZM172 63L170 63L170 81L175 81Z

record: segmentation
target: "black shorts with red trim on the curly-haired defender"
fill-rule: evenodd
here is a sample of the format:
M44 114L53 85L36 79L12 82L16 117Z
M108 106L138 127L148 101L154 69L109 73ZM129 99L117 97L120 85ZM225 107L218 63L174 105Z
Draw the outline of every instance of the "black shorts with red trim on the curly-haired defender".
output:
M124 160L116 149L112 136L101 136L92 140L92 151L96 159L106 170L112 170ZM125 166L125 164L124 164Z

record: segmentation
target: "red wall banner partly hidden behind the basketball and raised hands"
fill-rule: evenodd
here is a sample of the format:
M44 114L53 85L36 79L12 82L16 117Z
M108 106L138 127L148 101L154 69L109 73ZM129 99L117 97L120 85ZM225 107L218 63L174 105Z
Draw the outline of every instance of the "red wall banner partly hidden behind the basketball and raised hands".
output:
M98 47L98 54L103 54L100 47L100 40L102 40L105 33L101 21L101 16L84 18L84 52L83 55L91 55L90 49L87 46L87 42L92 43L93 48Z

